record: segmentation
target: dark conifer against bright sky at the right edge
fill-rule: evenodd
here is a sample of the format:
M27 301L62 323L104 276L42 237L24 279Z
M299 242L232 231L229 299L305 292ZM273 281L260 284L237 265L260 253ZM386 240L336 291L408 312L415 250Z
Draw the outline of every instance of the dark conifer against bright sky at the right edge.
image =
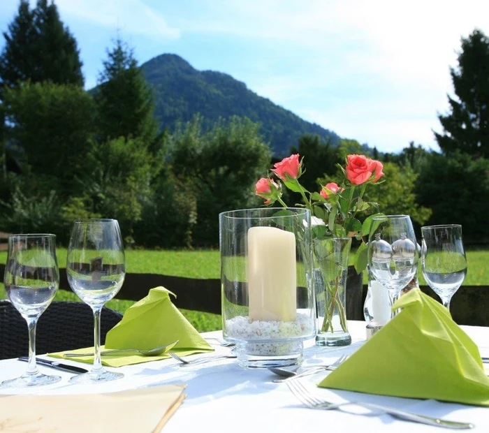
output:
M458 68L451 68L458 101L448 96L451 112L439 115L444 134L435 133L445 154L455 150L489 157L489 39L480 30L462 38Z

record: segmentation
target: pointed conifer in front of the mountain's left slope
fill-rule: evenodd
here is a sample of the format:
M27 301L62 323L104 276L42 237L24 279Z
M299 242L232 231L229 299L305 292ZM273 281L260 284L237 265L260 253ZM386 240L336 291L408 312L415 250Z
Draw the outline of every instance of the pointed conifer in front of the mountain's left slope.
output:
M152 89L138 68L133 50L119 38L103 62L94 98L100 140L142 138L149 149L156 149L159 128Z

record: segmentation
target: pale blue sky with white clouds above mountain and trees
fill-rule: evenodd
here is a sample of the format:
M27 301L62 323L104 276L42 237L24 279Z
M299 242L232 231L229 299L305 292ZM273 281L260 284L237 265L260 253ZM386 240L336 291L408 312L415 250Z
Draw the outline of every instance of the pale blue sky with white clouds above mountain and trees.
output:
M34 6L36 2L31 0ZM86 87L117 34L142 64L175 53L384 152L438 149L460 37L489 36L481 0L55 0L78 41ZM17 0L0 0L6 30ZM1 40L3 46L3 38ZM291 143L292 144L292 143Z

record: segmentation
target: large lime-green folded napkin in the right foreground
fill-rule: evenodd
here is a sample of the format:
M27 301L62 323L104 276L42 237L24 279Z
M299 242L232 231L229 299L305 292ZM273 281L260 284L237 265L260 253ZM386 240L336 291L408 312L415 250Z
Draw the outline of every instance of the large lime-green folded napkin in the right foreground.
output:
M318 386L489 406L489 378L476 344L448 310L419 289L402 308Z

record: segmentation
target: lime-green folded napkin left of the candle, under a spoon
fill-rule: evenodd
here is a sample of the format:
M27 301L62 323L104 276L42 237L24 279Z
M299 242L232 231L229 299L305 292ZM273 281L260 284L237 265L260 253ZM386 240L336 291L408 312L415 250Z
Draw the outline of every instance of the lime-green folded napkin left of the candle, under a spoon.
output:
M171 351L180 356L213 351L198 331L187 321L170 300L170 294L164 287L152 288L148 295L133 304L124 313L122 321L112 328L105 338L101 350L115 348L138 348L147 350L179 340ZM86 353L93 348L81 348L75 351L49 353L54 358L63 358L64 353ZM103 355L102 364L108 367L138 364L170 358L163 353L157 356L138 355L136 353ZM93 362L93 357L69 358L80 362Z

